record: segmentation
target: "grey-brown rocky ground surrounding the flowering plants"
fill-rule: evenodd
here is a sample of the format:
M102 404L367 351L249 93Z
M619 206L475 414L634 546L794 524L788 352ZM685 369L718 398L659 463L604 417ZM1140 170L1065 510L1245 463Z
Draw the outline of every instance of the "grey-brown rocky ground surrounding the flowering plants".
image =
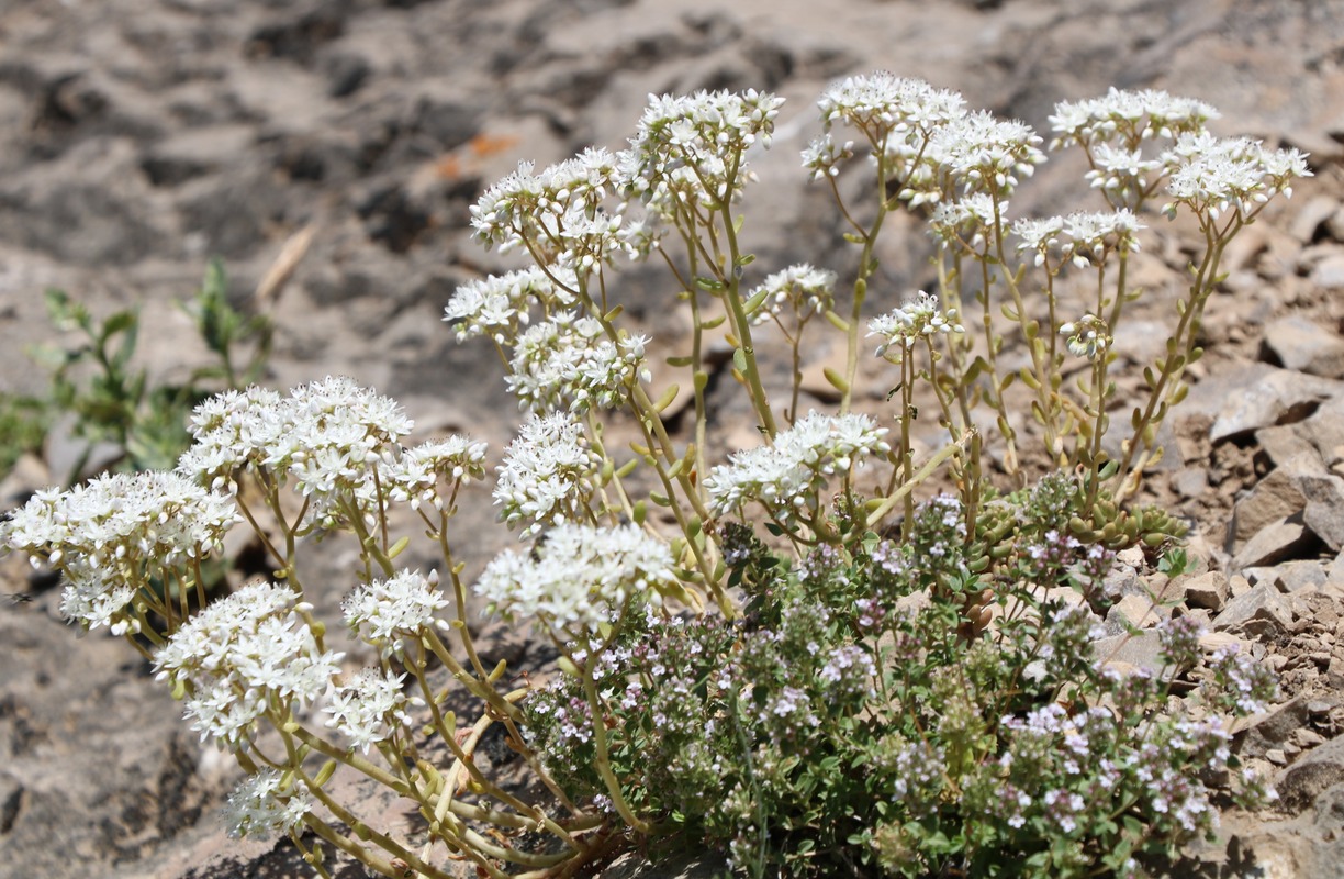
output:
M1312 153L1316 177L1228 254L1210 355L1150 480L1152 497L1192 523L1204 563L1165 583L1132 559L1110 589L1132 622L1152 616L1145 589L1165 590L1210 622L1211 646L1238 638L1282 679L1282 704L1236 739L1275 776L1279 806L1226 814L1224 839L1191 849L1181 875L1339 875L1339 0L0 0L0 388L46 386L24 351L63 341L46 319L48 286L102 315L142 304L146 364L181 375L203 352L171 302L220 257L237 301L278 325L267 383L347 374L401 399L426 433L469 430L499 449L513 411L495 359L439 323L457 284L513 265L466 241L481 188L519 159L622 146L650 91L774 90L789 103L757 164L747 245L766 270L843 267L839 222L797 153L817 130L821 89L874 69L961 90L1040 132L1058 99L1160 87L1218 106L1222 133ZM1015 212L1086 207L1077 175L1047 165ZM1163 304L1185 253L1177 231L1149 222L1142 284ZM875 308L929 281L922 233L906 231L888 233ZM254 301L293 258L290 282ZM665 306L640 298L645 281L630 276L632 310L657 333ZM1130 329L1122 356L1142 363L1161 325ZM26 461L0 505L59 474L62 456L58 438ZM505 539L480 507L466 523L481 527L477 563ZM223 837L230 761L198 745L124 644L77 640L58 590L22 560L0 578L0 878L306 875L285 847ZM526 651L519 633L496 634ZM1145 646L1134 638L1121 659L1152 661Z

